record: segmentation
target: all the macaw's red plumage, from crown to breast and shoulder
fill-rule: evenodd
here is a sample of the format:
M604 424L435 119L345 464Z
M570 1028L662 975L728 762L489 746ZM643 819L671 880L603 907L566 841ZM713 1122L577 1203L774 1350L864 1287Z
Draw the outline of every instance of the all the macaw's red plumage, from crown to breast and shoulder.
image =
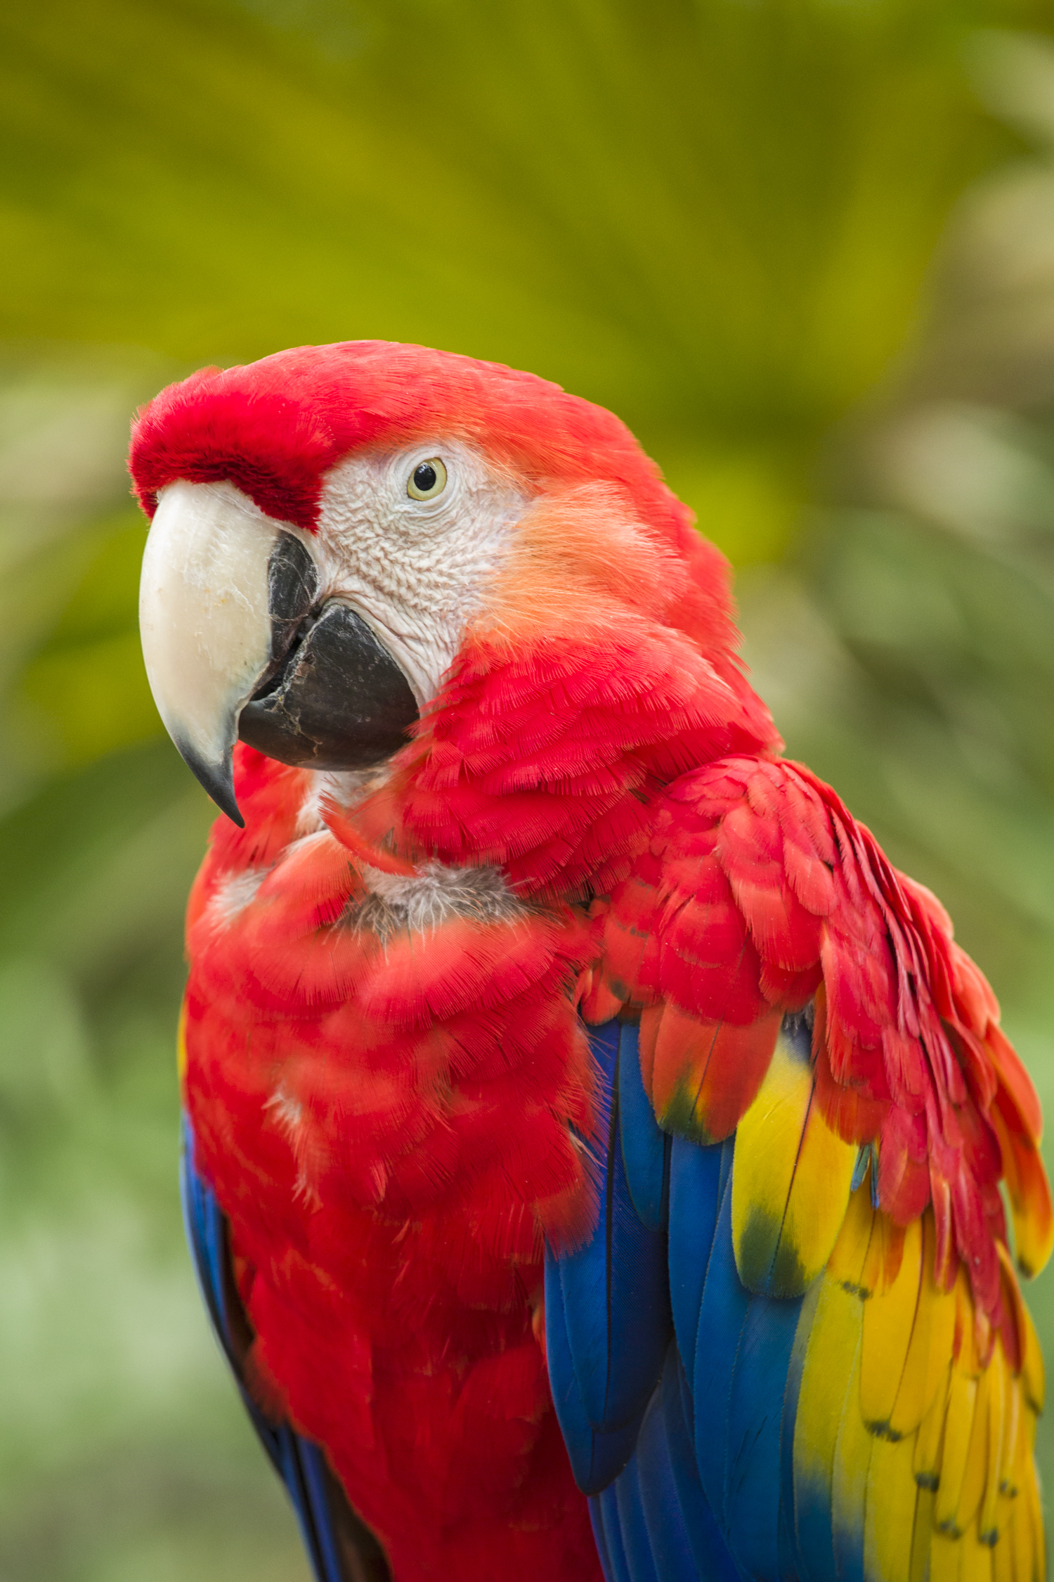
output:
M239 748L188 918L185 1101L231 1221L261 1395L322 1443L400 1582L599 1576L534 1338L542 1243L594 1215L588 1020L642 1017L661 1120L728 1136L784 1012L819 1101L877 1147L894 1221L932 1201L1010 1326L997 1182L1049 1245L1038 1107L934 899L777 758L727 568L608 413L382 343L205 370L141 416L147 511L226 478L314 528L327 471L449 435L531 501L409 745L305 818ZM498 869L414 927L384 884ZM1030 1236L1030 1240L1029 1240ZM1010 1340L1008 1340L1010 1345Z

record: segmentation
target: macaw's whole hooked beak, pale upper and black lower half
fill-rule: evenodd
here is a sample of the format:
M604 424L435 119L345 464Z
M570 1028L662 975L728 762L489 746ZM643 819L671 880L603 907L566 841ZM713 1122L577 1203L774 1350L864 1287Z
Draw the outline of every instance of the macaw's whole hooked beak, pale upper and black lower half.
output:
M243 826L234 744L314 769L365 769L406 742L417 701L373 628L319 603L308 535L224 484L161 490L139 585L147 677L164 728Z

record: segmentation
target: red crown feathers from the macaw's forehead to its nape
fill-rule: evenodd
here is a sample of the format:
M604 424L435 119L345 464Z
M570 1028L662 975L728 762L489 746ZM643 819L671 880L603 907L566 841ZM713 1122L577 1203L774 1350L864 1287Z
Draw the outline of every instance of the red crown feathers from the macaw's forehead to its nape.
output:
M694 532L692 513L629 429L558 384L496 362L348 340L201 369L142 408L130 467L147 516L175 479L229 479L267 516L310 532L330 468L357 449L425 437L468 441L533 495L599 483L627 500L687 584L665 620L710 658L735 650L728 566Z

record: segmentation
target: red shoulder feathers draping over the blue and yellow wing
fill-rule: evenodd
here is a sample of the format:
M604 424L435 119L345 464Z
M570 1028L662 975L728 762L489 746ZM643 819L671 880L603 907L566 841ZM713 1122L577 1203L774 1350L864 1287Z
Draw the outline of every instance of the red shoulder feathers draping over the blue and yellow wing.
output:
M675 782L648 851L612 894L604 941L604 1009L615 998L645 1008L659 1122L700 1142L736 1130L784 1016L811 1000L826 1125L871 1145L893 1221L932 1202L939 1283L962 1261L980 1308L1005 1321L1002 1175L1022 1267L1035 1270L1054 1239L1040 1104L943 908L828 786L765 758Z

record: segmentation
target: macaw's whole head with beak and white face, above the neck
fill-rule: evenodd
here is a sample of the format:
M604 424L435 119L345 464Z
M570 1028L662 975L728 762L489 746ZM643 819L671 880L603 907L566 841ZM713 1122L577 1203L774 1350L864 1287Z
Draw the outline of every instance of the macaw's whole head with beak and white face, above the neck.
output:
M239 824L239 739L371 769L466 664L545 674L542 713L580 736L615 690L667 736L695 709L728 745L776 742L724 558L612 413L534 375L386 342L204 369L139 413L130 465L150 687Z

